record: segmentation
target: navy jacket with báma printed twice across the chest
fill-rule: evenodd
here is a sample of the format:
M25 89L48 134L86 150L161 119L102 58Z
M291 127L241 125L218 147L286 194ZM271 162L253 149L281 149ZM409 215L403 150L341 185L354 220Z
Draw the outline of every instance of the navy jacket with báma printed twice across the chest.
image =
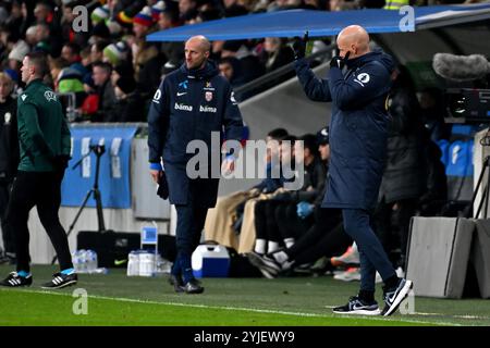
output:
M201 140L207 145L210 167L212 132L221 137L219 146L223 135L226 140L242 139L243 121L234 92L219 75L215 62L208 61L197 71L183 64L163 78L148 113L149 162L160 163L163 159L171 203L187 203L189 178L185 169L194 156L186 153L189 141ZM213 152L221 156L220 148L213 148ZM199 196L206 196L205 206L215 204L218 181L200 181L205 187L200 187Z

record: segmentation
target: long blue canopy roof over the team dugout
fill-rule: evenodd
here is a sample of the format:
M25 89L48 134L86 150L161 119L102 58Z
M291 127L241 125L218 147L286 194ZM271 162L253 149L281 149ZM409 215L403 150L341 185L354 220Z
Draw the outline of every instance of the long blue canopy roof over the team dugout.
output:
M413 8L415 22L407 22L407 12L382 9L353 11L287 10L184 25L150 34L148 41L185 41L204 35L210 40L257 39L265 37L333 36L351 24L362 25L368 33L401 33L434 26L467 23L490 17L490 4L436 5ZM404 20L405 18L405 20Z

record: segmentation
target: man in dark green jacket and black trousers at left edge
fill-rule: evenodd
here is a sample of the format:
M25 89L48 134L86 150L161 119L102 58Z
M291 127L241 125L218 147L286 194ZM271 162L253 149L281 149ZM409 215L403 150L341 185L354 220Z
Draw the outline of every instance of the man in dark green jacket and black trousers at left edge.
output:
M26 84L25 91L17 99L21 160L7 213L8 224L15 231L17 271L0 285L17 287L33 283L27 219L29 210L36 206L61 269L42 287L62 288L77 281L66 233L58 217L61 181L70 159L71 135L58 97L42 84L42 77L49 72L44 53L28 53L21 71L22 80Z

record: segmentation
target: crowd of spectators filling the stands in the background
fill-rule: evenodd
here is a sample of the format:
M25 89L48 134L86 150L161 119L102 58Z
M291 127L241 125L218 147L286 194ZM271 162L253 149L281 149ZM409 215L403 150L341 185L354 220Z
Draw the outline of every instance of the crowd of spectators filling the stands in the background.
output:
M72 98L70 121L145 122L152 92L161 78L182 64L182 42L148 42L146 36L181 25L247 13L308 9L342 11L397 9L403 4L462 3L462 0L1 0L0 71L22 91L20 67L29 51L50 58L46 83L64 104ZM466 2L475 2L467 0ZM78 30L77 5L87 9L88 26ZM77 22L78 21L78 22ZM76 22L76 23L75 23ZM79 23L78 23L79 25ZM326 40L315 41L314 50ZM240 87L293 61L280 38L212 42L211 58L233 87ZM292 76L283 75L238 100Z

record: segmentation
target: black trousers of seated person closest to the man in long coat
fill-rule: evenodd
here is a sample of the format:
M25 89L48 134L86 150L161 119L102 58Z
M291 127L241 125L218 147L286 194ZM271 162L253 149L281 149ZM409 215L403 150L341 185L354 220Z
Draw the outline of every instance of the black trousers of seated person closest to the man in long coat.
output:
M315 262L321 257L341 254L352 245L344 232L340 209L315 209L315 224L285 252L296 264Z

